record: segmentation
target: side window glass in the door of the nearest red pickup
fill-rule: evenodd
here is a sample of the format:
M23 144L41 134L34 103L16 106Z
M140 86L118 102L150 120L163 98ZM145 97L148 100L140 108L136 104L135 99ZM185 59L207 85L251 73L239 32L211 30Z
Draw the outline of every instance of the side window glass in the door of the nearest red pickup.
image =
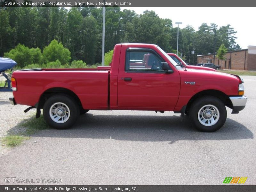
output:
M162 73L163 60L149 51L127 51L125 59L125 71Z

